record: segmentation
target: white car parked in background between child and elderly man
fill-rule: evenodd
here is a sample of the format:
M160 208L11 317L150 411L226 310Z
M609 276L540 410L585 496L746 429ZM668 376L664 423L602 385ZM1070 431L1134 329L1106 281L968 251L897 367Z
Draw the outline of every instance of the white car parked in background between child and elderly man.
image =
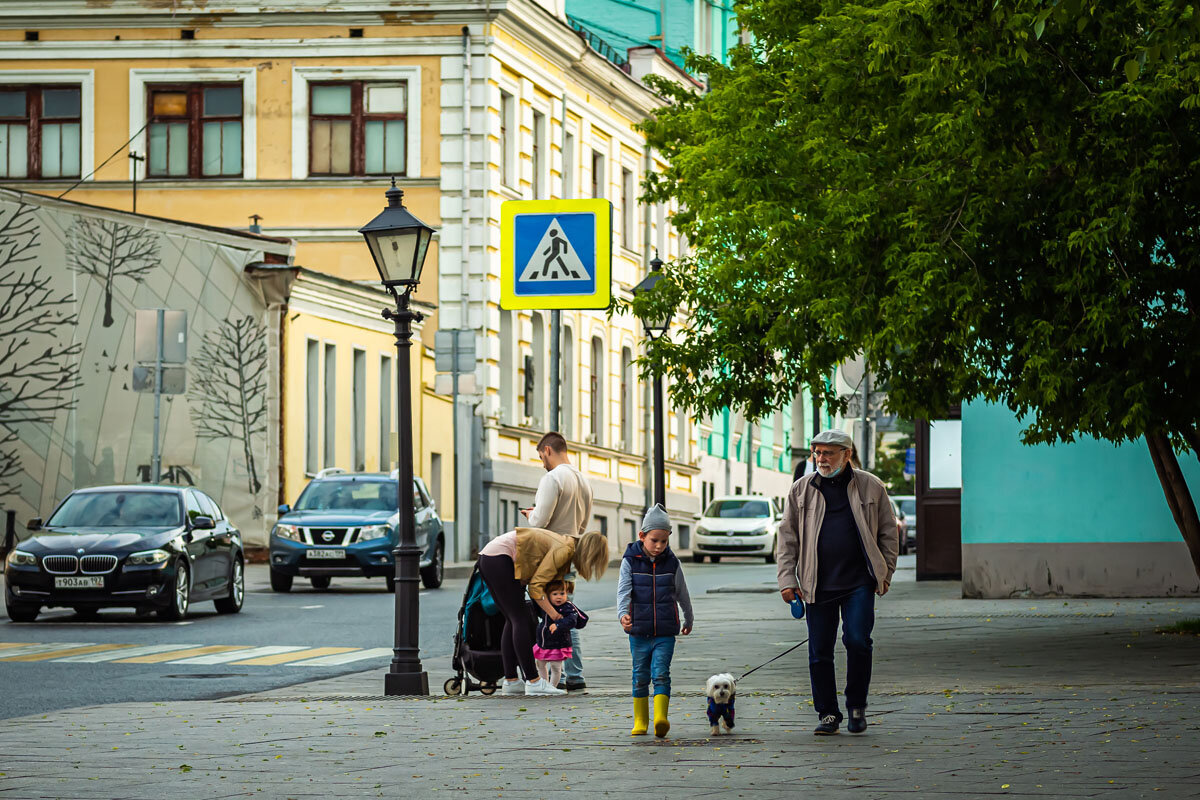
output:
M691 558L696 563L710 558L716 564L722 555L750 555L774 564L779 521L770 499L760 494L714 498L700 517Z

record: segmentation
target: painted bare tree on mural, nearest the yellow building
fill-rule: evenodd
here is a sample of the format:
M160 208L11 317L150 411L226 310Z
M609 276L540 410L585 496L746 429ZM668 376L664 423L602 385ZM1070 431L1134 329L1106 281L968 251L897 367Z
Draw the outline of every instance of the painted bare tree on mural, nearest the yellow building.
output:
M227 319L204 336L192 363L196 437L241 444L250 493L258 494L252 439L266 433L266 329L248 315Z

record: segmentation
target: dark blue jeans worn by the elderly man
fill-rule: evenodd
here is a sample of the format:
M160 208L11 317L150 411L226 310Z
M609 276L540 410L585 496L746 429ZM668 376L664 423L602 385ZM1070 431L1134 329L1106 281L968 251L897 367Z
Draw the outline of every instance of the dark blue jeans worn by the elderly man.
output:
M833 648L838 642L838 618L841 616L841 642L846 645L846 708L865 709L871 685L871 628L875 627L875 587L860 587L823 603L808 603L809 678L812 680L812 705L817 716L828 714L842 718L838 705L838 679L833 673Z

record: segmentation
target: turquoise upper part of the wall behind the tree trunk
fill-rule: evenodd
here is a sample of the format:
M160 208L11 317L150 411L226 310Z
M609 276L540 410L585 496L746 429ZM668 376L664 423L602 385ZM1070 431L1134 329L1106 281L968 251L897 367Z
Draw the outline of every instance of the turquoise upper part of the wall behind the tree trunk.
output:
M1200 500L1200 461L1180 465ZM1178 542L1144 440L1021 444L1000 405L962 407L962 542Z

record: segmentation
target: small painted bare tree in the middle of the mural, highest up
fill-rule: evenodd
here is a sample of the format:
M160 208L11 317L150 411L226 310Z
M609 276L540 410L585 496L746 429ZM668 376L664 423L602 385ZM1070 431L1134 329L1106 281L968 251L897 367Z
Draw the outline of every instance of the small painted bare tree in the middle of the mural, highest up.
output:
M104 287L104 327L113 325L118 278L139 283L160 263L158 234L109 219L80 216L67 236L67 264Z

